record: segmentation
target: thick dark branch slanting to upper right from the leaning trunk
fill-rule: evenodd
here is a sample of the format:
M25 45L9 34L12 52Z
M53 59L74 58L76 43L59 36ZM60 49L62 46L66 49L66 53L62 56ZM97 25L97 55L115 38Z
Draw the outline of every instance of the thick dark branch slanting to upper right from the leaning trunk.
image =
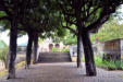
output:
M87 26L86 30L88 32L96 32L96 31L98 31L98 28L100 28L100 26L106 21L109 20L110 14L115 12L116 7L120 5L120 4L121 4L121 2L114 1L114 2L111 2L111 4L108 5L108 7L107 5L102 7L103 10L100 12L100 17L96 22L94 22L89 26Z

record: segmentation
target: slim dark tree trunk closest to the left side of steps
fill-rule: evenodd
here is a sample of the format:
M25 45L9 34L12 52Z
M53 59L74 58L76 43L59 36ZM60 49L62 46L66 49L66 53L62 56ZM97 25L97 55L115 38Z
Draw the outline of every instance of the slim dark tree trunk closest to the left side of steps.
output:
M38 49L38 33L34 35L34 63L37 62L37 49Z

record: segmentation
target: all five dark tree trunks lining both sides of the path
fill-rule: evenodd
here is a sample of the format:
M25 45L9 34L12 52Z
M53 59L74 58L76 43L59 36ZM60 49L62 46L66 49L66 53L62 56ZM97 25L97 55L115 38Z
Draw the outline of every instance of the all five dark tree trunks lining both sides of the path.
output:
M17 23L16 20L11 22L11 33L10 33L10 57L9 57L9 79L15 78L15 58L16 58L16 38L17 38ZM96 75L96 66L94 61L94 52L91 48L91 43L89 39L89 34L87 32L78 32L78 43L77 43L77 67L81 67L82 63L82 54L81 54L81 43L83 40L85 61L86 61L86 72L87 75ZM38 47L38 34L34 37L34 62L37 60L37 47ZM33 46L33 35L28 33L28 44L27 44L27 54L26 54L26 65L29 68L30 58L32 58L32 46Z

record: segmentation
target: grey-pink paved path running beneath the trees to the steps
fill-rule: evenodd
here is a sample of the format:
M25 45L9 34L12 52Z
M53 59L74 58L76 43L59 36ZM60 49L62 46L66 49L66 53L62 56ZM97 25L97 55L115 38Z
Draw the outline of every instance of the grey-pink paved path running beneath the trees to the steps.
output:
M0 82L123 82L123 71L107 71L97 68L97 77L86 77L85 67L76 68L74 62L38 63L29 70L16 72L16 79Z

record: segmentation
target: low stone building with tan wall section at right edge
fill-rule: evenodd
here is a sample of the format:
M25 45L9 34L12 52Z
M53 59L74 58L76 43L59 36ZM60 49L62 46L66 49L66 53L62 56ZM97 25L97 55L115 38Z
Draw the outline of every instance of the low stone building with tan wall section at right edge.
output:
M118 59L123 59L123 38L111 39L95 45L99 55L111 55Z

